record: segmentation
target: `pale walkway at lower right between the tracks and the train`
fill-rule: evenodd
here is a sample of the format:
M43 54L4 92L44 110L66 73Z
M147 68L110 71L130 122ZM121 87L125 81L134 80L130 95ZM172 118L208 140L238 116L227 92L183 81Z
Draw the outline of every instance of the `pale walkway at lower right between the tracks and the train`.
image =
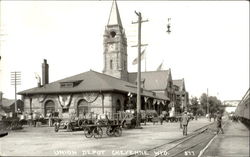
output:
M249 130L241 122L229 122L205 151L204 157L249 157Z

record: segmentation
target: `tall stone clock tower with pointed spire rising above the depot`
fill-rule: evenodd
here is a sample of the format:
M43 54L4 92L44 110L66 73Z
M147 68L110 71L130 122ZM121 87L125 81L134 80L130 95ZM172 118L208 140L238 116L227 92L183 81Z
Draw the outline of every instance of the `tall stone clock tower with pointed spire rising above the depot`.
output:
M103 73L128 81L127 38L115 0L112 3L108 24L105 27L103 45Z

